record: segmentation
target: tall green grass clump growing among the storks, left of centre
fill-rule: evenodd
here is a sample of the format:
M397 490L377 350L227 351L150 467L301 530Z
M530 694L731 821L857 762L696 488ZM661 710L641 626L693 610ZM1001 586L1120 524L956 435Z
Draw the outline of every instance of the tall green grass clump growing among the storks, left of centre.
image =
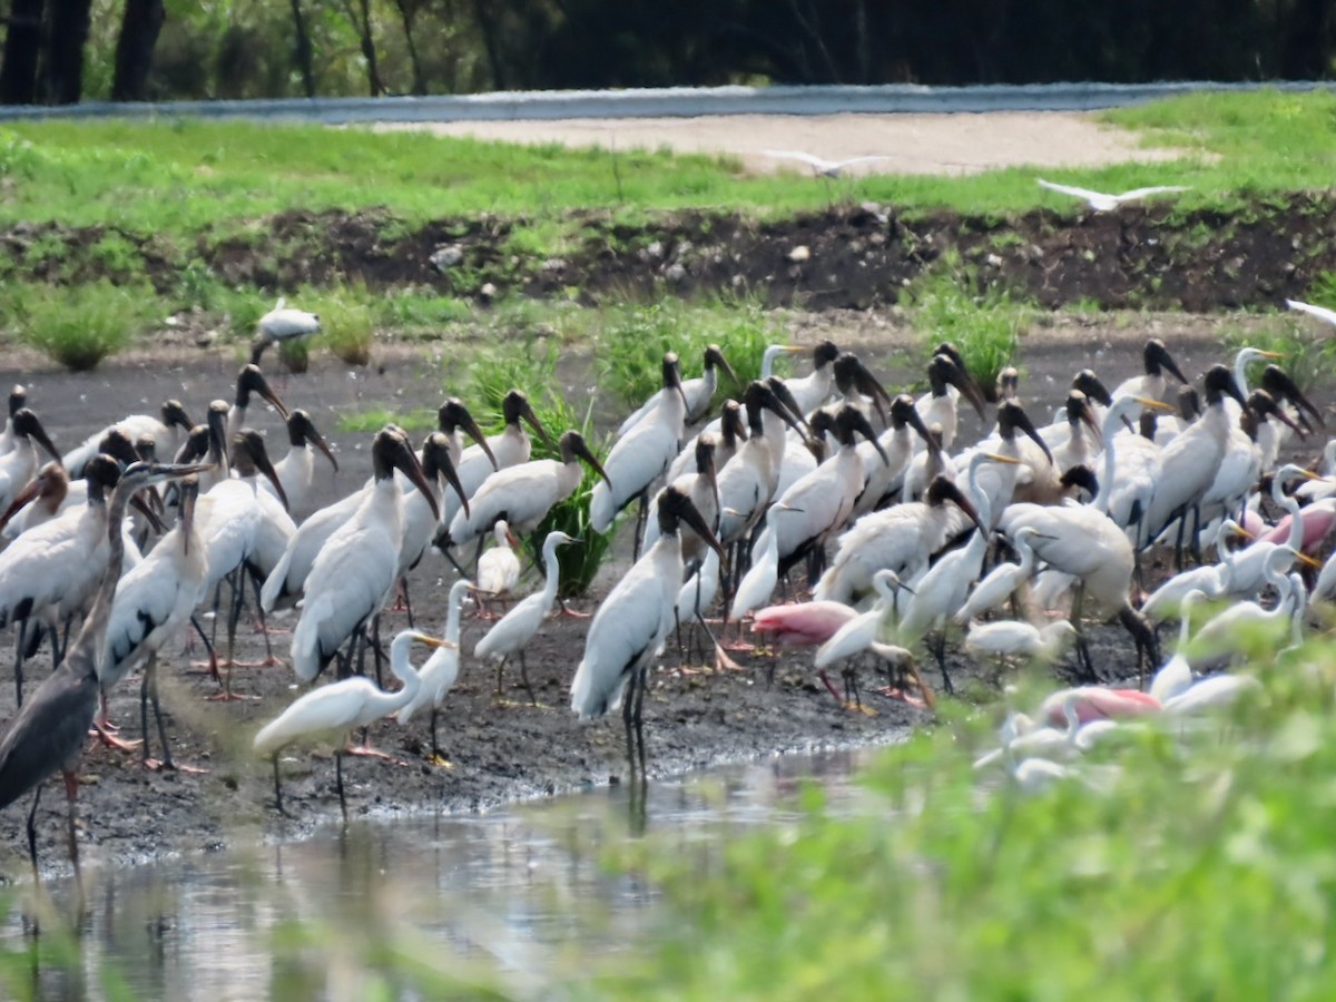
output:
M557 346L537 339L528 341L522 347L509 345L477 357L469 370L473 393L470 409L484 428L489 425L500 432L504 426L501 402L512 387L518 386L529 395L529 403L545 429L558 438L562 432L576 429L585 437L589 450L601 461L608 454L607 442L593 430L593 405L591 395L582 409L578 397L564 393L557 378ZM532 458L560 460L561 456L537 434L530 434L533 442ZM589 494L593 492L597 474L585 469L580 486L570 497L552 506L538 528L524 538L524 549L529 560L542 566L542 541L553 529L561 529L568 536L580 540L573 546L557 549L561 566L558 595L562 597L582 596L593 584L599 566L608 556L612 536L601 536L589 526Z

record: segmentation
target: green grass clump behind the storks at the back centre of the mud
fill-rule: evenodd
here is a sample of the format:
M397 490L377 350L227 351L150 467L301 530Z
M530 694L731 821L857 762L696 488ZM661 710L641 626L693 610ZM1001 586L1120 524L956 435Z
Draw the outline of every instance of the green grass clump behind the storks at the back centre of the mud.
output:
M760 373L766 346L787 339L774 314L755 303L688 306L661 299L651 306L612 307L596 314L591 333L599 385L623 406L635 409L663 385L663 357L676 351L684 378L701 374L707 345L719 345L744 383ZM739 387L720 373L717 398Z

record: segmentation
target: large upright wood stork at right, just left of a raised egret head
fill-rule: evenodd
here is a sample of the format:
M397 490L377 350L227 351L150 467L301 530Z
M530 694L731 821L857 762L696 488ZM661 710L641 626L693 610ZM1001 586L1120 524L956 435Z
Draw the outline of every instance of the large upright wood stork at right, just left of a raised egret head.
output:
M1201 420L1169 442L1161 453L1162 470L1144 517L1146 533L1141 537L1142 546L1156 540L1174 518L1181 518L1180 525L1185 525L1185 516L1197 510L1214 481L1230 438L1229 417L1224 409L1226 395L1246 406L1230 371L1222 365L1214 365L1205 377L1206 407ZM1200 516L1197 521L1200 522ZM1200 524L1194 525L1194 533L1200 528ZM1181 538L1178 549L1181 557Z

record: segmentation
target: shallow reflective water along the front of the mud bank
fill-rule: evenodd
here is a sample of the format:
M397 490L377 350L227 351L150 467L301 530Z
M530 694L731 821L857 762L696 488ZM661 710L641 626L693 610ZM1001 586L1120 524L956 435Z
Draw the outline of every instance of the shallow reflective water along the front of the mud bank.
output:
M708 866L731 835L792 822L807 779L834 810L855 806L850 778L867 755L778 758L655 783L644 798L612 787L90 870L77 946L49 935L56 918L48 934L32 934L31 895L29 916L4 926L20 971L9 987L51 998L115 997L118 986L132 998L361 998L369 967L383 963L367 959L375 942L464 986L541 997L577 981L591 953L624 950L655 921L656 888L605 866L619 844L648 834ZM72 887L48 891L68 914Z

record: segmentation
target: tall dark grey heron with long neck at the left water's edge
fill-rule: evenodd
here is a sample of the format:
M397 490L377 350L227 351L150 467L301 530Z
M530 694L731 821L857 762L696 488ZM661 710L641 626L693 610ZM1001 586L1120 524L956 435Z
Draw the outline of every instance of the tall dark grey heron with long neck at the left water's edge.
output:
M115 464L112 464L115 465ZM79 760L83 756L88 727L98 709L98 665L106 643L107 620L111 616L116 584L123 560L122 522L130 498L147 486L170 477L198 472L186 466L152 466L136 464L126 470L112 493L103 520L107 560L103 566L92 609L83 621L79 635L69 644L67 657L37 687L32 699L19 711L4 737L0 737L0 808L8 807L32 788L37 788L32 810L28 812L28 852L33 872L37 872L37 802L41 783L56 770L64 775L68 804L69 862L75 879L79 872L79 840L75 831L75 798L79 792ZM119 469L118 469L119 473Z

